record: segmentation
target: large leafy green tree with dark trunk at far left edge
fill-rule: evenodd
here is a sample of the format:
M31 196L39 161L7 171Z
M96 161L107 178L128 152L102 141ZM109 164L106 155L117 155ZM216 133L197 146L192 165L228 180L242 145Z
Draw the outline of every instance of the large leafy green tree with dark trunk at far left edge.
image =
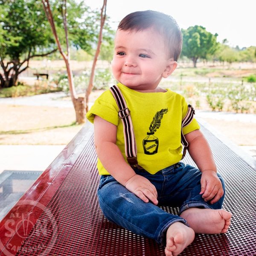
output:
M11 87L31 58L56 49L38 0L0 0L0 7L0 87Z

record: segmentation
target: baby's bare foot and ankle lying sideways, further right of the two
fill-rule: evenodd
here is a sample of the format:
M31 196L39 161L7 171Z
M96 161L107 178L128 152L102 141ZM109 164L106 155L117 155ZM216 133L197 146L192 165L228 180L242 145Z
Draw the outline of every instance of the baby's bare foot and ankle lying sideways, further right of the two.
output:
M180 214L195 233L226 233L231 220L231 213L223 209L189 208Z

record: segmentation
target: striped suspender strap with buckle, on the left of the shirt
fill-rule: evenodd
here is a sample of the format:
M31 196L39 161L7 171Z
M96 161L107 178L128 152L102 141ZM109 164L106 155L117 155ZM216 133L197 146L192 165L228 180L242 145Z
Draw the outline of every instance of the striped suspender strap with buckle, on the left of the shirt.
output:
M137 145L135 141L134 129L131 121L130 111L126 105L125 98L123 97L119 87L113 85L110 88L113 97L116 100L119 108L118 116L122 120L124 138L125 138L125 155L130 165L139 167L137 161Z

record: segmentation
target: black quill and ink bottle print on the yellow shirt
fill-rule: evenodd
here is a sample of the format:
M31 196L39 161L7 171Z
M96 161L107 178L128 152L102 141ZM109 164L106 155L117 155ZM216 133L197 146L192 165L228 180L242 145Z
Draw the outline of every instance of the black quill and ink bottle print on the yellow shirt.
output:
M157 129L160 128L161 120L163 119L163 114L168 112L168 108L163 108L154 115L154 118L149 126L149 132L147 132L147 137L143 140L143 148L145 154L157 154L159 141L158 138L154 136Z

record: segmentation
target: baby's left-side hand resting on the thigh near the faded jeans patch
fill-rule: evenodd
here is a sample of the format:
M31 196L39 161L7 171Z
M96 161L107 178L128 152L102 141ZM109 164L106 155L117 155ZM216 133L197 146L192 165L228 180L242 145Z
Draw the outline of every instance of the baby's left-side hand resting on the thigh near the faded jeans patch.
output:
M125 187L145 203L150 200L153 204L158 204L157 189L147 178L136 174L125 183Z

